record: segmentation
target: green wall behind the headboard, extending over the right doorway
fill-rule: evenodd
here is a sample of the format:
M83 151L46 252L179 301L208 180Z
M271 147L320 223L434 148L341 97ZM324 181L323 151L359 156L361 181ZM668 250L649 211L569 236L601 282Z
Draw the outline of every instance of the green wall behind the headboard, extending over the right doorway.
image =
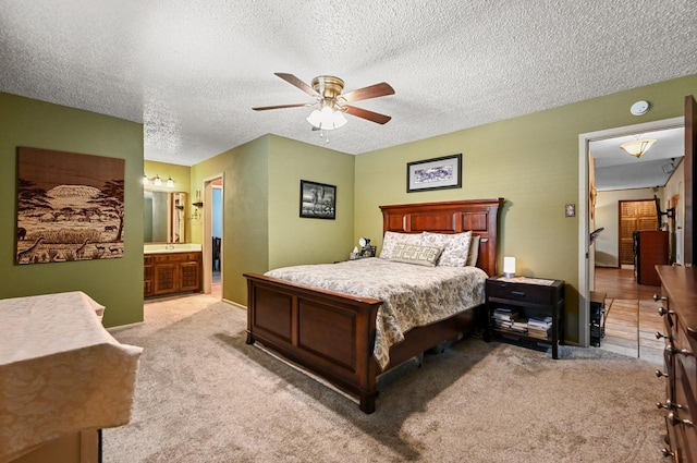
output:
M578 204L578 135L683 114L684 97L697 94L697 75L649 85L356 157L354 236L381 244L378 206L448 199L505 198L499 268L516 257L517 273L565 280L566 338L578 342L578 220L564 217ZM646 99L651 110L634 117ZM406 193L406 163L463 155L463 187Z

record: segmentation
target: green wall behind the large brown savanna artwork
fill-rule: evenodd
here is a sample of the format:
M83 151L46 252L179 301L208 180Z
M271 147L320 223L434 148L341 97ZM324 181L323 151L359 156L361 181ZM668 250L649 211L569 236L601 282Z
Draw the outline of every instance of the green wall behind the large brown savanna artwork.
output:
M16 148L125 159L122 258L14 265ZM143 125L0 93L0 298L83 291L107 307L105 326L143 320Z

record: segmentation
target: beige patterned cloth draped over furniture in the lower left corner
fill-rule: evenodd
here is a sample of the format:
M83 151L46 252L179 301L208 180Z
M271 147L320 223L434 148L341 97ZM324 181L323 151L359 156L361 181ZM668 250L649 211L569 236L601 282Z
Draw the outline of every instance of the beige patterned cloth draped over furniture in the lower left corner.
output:
M75 291L0 300L0 463L83 429L126 424L142 349Z

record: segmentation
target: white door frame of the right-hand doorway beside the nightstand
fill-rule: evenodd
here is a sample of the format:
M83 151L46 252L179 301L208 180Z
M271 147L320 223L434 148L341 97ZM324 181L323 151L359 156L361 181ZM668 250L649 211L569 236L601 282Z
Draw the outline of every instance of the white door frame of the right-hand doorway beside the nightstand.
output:
M587 348L590 344L590 208L589 208L589 176L588 176L588 146L590 142L614 138L617 136L635 135L644 132L655 132L665 129L685 126L685 118L677 117L661 121L645 122L636 125L607 129L578 135L578 210L583 215L578 220L578 341Z

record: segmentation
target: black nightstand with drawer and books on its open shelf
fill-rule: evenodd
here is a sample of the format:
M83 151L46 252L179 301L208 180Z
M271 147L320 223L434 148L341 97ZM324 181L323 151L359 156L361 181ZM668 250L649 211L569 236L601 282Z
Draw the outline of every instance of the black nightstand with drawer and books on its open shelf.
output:
M527 345L551 346L552 358L559 358L559 344L564 342L564 281L492 277L486 290L487 341L496 334Z

